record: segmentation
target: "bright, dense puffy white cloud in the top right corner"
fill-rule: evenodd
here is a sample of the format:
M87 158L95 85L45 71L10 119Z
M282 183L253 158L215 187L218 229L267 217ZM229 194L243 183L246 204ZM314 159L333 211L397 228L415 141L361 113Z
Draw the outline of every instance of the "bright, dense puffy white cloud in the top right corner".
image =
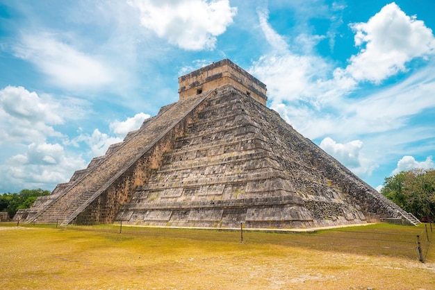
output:
M350 58L346 72L358 81L379 83L406 71L405 64L413 58L435 51L432 30L416 17L405 15L395 3L384 6L367 23L351 27L356 46L363 48Z

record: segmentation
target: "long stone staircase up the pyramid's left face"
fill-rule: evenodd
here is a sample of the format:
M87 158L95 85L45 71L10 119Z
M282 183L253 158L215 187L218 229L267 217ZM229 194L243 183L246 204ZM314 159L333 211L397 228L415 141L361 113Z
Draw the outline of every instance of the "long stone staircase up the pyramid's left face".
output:
M172 130L175 126L186 119L188 114L194 112L208 94L212 93L206 92L195 98L163 107L156 117L145 121L139 130L127 135L124 142L111 146L106 155L93 160L88 169L76 172L74 179L72 178L65 185L60 185L62 188L54 191L47 202L40 203L42 206L35 214L28 216L26 222L30 223L38 219L38 222L60 221L63 225L67 225L76 219L104 191L115 185L123 173L129 171L157 142L168 134L173 134ZM129 198L131 196L122 196L113 203L113 207L119 207L122 201L128 201Z

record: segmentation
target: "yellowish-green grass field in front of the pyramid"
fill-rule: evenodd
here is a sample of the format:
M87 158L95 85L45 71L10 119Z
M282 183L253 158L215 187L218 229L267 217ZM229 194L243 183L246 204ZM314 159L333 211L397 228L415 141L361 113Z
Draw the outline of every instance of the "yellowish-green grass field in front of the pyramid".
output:
M2 223L0 287L435 289L435 247L418 261L416 234L424 230L244 231L240 243L238 231Z

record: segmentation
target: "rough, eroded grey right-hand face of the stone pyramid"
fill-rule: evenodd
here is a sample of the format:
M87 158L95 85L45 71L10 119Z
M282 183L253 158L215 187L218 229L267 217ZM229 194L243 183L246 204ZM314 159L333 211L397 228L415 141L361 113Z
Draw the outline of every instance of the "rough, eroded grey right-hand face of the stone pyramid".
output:
M323 214L323 218L327 218L331 210L334 214L345 212L347 216L361 216L362 212L381 217L397 216L400 207L386 200L334 157L297 133L277 112L260 105L256 106L256 110L258 114L255 116L261 123L259 127L277 131L276 135L270 135L268 142L279 152L277 155L281 164L293 176L295 189L309 201L306 205L313 216ZM332 205L331 200L355 206L350 211L346 210L347 206L338 208ZM317 205L313 206L313 202Z

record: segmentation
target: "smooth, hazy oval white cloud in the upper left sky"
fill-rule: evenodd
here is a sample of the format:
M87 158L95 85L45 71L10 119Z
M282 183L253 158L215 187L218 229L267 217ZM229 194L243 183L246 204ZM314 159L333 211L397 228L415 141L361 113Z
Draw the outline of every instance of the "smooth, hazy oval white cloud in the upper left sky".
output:
M15 56L32 62L58 87L83 89L107 85L114 80L112 70L98 56L74 48L53 33L24 34L14 46Z

